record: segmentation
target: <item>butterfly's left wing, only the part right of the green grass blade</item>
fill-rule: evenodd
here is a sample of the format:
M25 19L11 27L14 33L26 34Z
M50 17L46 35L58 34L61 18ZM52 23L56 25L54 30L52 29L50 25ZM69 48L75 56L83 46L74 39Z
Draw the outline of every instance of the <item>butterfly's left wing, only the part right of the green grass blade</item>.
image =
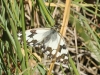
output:
M29 33L29 35L27 35L28 33ZM43 30L43 29L39 28L39 29L27 30L26 31L26 40L28 40L28 42L30 42L32 40L37 40L38 43L40 43L49 34L50 34L49 29Z

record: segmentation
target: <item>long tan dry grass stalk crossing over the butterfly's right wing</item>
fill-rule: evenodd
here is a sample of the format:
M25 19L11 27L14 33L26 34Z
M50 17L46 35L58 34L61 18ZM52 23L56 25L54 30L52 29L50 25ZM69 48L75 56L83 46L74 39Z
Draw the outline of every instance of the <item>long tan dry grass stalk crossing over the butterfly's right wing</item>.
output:
M69 19L69 13L70 13L70 3L71 3L71 0L66 0L63 23L62 23L61 30L60 30L61 37L65 36L65 34L66 34L66 29L67 29L68 19ZM61 38L60 38L60 41L61 41ZM51 71L53 70L54 63L56 62L57 52L60 50L60 41L59 41L54 59L52 60L52 63L50 64L50 69L49 69L47 75L51 75Z

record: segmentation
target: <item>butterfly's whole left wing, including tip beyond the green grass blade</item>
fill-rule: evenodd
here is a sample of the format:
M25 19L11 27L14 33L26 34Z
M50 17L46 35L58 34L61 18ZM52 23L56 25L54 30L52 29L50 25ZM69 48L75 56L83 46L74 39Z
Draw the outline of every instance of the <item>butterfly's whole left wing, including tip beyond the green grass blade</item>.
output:
M35 29L26 30L25 31L26 41L30 43L29 45L33 46L34 44L34 42L32 43L33 40L37 40L36 43L40 43L45 37L49 35L49 33L50 33L49 28L46 28L46 29L35 28ZM21 33L18 33L18 40L22 40Z

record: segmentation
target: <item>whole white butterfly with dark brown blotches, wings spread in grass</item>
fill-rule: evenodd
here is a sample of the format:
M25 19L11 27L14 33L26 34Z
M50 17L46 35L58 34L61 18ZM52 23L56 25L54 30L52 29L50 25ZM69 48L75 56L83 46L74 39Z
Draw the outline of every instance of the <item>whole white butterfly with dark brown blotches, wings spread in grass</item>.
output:
M38 47L41 45L41 50L43 54L53 58L55 55L58 45L60 46L59 52L56 54L57 61L68 60L67 54L68 50L66 47L66 42L61 35L51 28L35 28L26 30L26 41L27 44L32 47ZM21 33L18 33L18 40L21 40Z

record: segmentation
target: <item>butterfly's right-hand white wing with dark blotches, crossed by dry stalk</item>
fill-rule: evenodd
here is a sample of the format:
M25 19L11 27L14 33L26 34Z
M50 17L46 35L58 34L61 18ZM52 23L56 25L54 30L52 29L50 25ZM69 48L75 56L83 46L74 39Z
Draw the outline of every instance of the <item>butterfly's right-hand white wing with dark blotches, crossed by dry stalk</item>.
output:
M68 57L67 57L68 50L67 50L66 42L65 42L64 38L61 37L61 35L56 31L52 32L51 35L48 35L48 37L50 39L49 40L45 39L44 44L45 44L46 47L51 47L52 48L52 51L49 54L51 54L51 56L55 55L55 53L57 51L57 48L58 48L58 45L59 45L60 49L59 49L59 52L57 52L56 57L57 58L61 57L61 58L58 59L58 61L67 60L68 59Z

